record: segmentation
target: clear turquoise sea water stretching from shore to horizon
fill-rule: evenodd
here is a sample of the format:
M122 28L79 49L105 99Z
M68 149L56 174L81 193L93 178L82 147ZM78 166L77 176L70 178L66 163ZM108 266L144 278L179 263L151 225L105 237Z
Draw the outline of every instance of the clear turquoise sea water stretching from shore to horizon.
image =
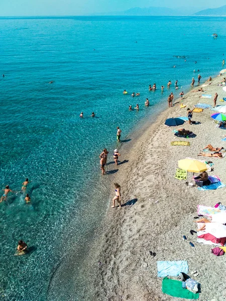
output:
M107 147L111 153L116 147L116 126L125 139L140 120L166 107L169 91L161 93L160 86L168 80L178 95L188 89L194 69L202 80L222 69L225 20L2 18L0 25L0 72L5 74L0 78L0 179L2 188L9 184L17 192L0 204L0 295L46 300L62 257L69 254L70 260L73 250L82 248L106 211L100 150ZM214 32L217 39L210 37ZM174 55L186 56L186 62ZM175 80L182 89L175 91ZM157 90L149 92L153 83ZM141 96L132 98L132 92ZM147 97L149 108L144 107ZM136 103L141 110L129 112ZM88 117L92 111L95 118ZM20 193L26 177L33 181L27 189L31 205ZM106 198L98 203L100 194ZM14 256L19 239L31 247L26 256ZM76 282L75 274L67 276ZM60 283L54 286L56 295L60 289ZM70 300L79 300L79 290L71 285L65 290Z

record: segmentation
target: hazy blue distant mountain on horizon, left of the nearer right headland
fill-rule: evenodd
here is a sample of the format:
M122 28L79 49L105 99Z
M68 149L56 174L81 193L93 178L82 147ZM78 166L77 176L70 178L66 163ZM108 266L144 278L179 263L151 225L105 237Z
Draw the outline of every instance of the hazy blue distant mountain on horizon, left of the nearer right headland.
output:
M149 8L132 8L123 12L109 12L95 14L97 16L189 16L197 12L198 9L192 8L161 8L161 7L149 7Z

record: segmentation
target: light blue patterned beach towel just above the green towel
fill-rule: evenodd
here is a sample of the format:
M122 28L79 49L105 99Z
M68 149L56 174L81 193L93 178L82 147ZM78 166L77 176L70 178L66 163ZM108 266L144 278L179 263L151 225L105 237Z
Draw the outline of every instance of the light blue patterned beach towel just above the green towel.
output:
M188 264L185 260L157 261L158 277L176 276L180 272L188 273Z

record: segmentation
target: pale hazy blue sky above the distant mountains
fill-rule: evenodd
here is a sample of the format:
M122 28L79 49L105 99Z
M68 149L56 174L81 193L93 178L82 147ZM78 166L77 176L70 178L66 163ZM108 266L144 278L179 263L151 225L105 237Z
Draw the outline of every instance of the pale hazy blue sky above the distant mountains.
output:
M0 16L78 16L151 6L199 11L223 5L225 0L0 0Z

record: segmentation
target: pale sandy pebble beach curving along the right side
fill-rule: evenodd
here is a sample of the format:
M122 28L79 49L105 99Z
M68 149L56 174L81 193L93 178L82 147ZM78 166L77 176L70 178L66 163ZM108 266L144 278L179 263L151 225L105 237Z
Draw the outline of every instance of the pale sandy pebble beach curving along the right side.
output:
M189 92L182 101L175 100L175 105L165 110L134 142L129 153L122 148L121 161L129 160L129 163L120 167L114 182L122 187L125 206L112 209L110 202L100 225L100 235L97 235L88 256L89 260L92 258L88 274L91 270L91 275L95 276L89 279L93 289L87 293L87 299L175 300L161 290L162 278L157 277L157 261L187 260L189 271L199 272L195 278L201 283L199 299L223 300L225 258L211 254L213 245L197 243L197 234L192 236L190 230L197 229L193 222L193 217L197 216L197 205L213 207L219 201L224 204L225 188L199 191L174 176L178 160L210 160L197 155L208 143L214 147L226 146L226 142L221 141L226 131L216 128L210 117L214 111L210 109L193 113L193 120L200 124L184 123L178 127L193 131L195 138L177 138L173 128L164 125L168 117L186 116L187 108L193 109L198 102L213 105L215 92L219 95L217 105L222 105L219 99L225 96L225 92L217 86L222 79L223 76L217 76L211 84L206 82L204 93ZM199 98L201 94L211 94L212 97ZM185 108L180 108L181 102ZM171 146L170 142L175 140L189 140L190 146ZM213 158L210 161L214 163L214 171L209 175L217 175L222 183L226 183L225 159ZM189 176L192 174L188 173L188 180ZM113 192L112 185L111 198ZM186 241L183 235L186 235ZM189 245L190 241L195 247ZM151 256L149 251L156 252L156 256Z

